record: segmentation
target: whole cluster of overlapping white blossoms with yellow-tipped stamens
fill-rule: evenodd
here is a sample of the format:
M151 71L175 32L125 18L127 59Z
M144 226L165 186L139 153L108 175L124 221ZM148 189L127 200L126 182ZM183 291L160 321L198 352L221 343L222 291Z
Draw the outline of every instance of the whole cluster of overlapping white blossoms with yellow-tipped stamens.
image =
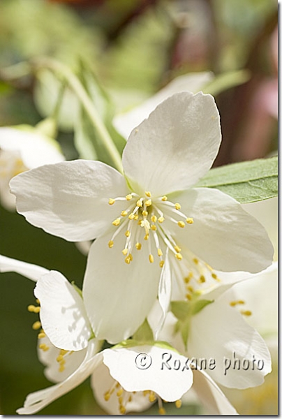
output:
M180 408L194 393L209 413L232 415L218 385L254 387L272 369L244 300L245 283L276 269L272 243L234 198L195 186L221 145L214 98L181 91L144 116L124 147L123 172L101 161L64 161L50 142L53 152L41 150L42 161L29 163L31 133L20 132L23 154L16 140L5 140L15 128L1 133L17 212L47 233L89 242L82 290L61 272L0 256L1 272L36 282L29 311L39 314L38 356L54 383L28 395L17 413L36 413L91 376L110 414L155 402L165 413L166 402ZM126 131L124 119L119 124ZM181 373L154 362L163 353L185 365ZM138 368L139 354L149 367ZM224 371L234 354L253 368ZM212 358L214 368L200 368L200 358Z

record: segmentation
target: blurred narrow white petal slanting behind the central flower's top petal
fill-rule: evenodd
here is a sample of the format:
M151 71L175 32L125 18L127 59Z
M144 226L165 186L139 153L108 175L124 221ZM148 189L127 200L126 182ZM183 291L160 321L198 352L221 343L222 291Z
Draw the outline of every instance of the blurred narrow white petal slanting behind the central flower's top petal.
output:
M201 90L207 82L211 81L212 78L213 74L208 72L180 75L158 91L154 96L147 99L147 101L144 101L141 105L136 106L129 112L114 117L114 127L121 135L124 135L124 138L128 138L133 128L149 117L156 106L165 101L165 99L172 96L172 94L181 91L193 91L193 93L196 93Z

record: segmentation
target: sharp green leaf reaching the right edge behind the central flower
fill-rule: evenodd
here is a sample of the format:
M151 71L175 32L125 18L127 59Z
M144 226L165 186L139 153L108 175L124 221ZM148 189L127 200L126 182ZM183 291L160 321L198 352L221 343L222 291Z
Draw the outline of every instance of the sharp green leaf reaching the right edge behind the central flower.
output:
M239 203L253 203L278 195L278 157L232 163L209 170L195 187L216 188Z

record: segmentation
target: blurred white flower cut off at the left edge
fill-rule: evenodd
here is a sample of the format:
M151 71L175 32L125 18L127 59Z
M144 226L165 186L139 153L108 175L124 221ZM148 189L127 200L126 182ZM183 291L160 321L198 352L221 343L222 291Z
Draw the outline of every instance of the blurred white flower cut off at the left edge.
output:
M0 200L8 210L15 210L15 196L10 193L12 177L47 163L64 161L59 145L52 138L29 126L0 128Z

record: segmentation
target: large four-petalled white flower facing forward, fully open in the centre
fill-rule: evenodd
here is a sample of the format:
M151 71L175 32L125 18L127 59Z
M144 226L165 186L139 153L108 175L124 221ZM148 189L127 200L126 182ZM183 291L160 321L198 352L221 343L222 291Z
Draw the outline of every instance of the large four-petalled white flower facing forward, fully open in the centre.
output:
M10 182L17 211L34 226L70 241L98 237L83 286L98 339L114 344L133 335L158 294L165 314L171 279L184 284L192 275L214 288L215 269L259 272L271 263L264 228L237 201L216 189L191 189L220 143L214 99L184 92L132 131L124 176L101 162L71 161Z

